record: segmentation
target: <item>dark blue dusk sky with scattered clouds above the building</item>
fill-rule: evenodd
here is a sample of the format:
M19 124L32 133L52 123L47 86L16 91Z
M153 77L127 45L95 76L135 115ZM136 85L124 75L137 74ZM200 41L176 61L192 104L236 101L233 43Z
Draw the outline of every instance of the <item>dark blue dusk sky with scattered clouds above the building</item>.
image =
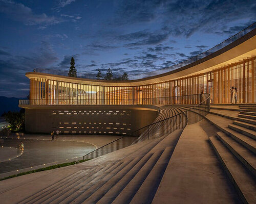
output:
M143 73L256 21L256 1L0 0L0 96L25 97L34 68Z

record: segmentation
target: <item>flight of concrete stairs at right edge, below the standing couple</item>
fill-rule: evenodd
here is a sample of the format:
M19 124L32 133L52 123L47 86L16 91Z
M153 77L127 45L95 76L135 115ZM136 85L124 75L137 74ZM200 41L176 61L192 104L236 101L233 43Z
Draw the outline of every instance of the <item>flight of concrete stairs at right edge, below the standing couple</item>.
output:
M206 119L220 132L210 144L244 203L256 203L256 105L211 106Z

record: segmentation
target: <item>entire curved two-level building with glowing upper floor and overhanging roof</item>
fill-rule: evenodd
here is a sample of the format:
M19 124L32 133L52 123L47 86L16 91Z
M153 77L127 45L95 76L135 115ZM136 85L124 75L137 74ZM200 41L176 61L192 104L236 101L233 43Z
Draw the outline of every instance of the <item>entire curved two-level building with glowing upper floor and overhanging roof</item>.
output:
M35 69L34 72L27 72L26 77L30 79L30 99L20 100L19 103L19 107L26 108L26 129L29 132L50 132L63 128L65 131L62 133L69 134L126 134L154 121L157 107L151 105L197 104L197 99L190 97L186 100L182 96L202 92L210 93L211 104L228 104L231 103L232 86L238 89L238 103L255 103L255 34L256 23L253 23L194 58L174 67L131 75L133 80L129 81L83 79L86 74L82 73L73 78L68 77L65 71L56 70ZM113 124L118 125L117 121L127 118L121 113L130 117L129 121L136 121L134 124L128 120L122 122L130 126L122 127L126 131L109 131L104 128L102 131L95 131L102 124L112 130ZM142 117L144 113L148 116L147 120ZM90 119L84 123L84 114L93 116L86 117ZM95 126L92 126L92 122L88 126L88 122L99 114L116 118L109 117L105 124L105 118L93 121ZM58 117L53 118L53 115ZM78 117L79 120L74 119ZM42 124L45 124L45 128L40 129ZM80 130L82 126L90 131Z

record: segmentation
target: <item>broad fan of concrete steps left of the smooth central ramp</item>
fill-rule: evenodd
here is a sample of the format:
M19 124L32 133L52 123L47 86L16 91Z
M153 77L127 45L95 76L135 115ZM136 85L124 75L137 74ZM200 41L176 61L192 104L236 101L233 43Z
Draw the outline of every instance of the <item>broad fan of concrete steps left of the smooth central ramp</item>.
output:
M155 122L182 110L162 106L159 112ZM78 164L84 168L18 203L151 203L182 131L178 128Z

